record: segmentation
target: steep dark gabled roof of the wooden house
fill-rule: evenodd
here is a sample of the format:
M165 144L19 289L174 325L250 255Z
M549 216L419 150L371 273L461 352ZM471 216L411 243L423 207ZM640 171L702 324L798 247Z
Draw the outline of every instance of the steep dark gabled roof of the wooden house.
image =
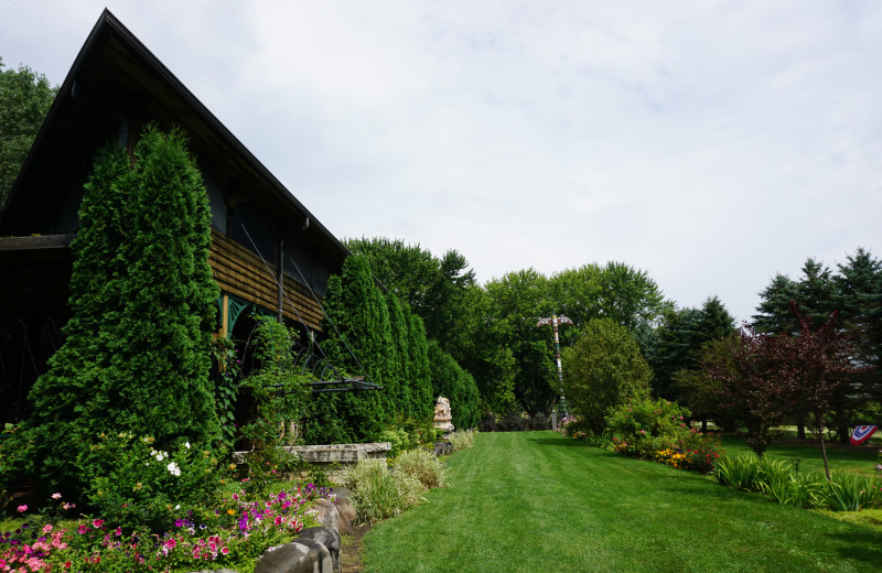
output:
M148 121L182 127L200 166L224 180L228 197L257 205L275 236L340 270L346 247L108 10L62 84L0 213L0 237L75 230L61 219L69 217L72 202L78 205L95 150L112 137L130 144Z

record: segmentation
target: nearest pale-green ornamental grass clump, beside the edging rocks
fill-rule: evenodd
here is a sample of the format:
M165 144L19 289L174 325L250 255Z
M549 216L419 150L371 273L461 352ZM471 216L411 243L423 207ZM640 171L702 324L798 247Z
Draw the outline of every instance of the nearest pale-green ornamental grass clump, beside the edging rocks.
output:
M422 499L423 486L405 473L392 474L383 460L359 460L343 471L343 485L353 490L357 519L373 523L397 516Z

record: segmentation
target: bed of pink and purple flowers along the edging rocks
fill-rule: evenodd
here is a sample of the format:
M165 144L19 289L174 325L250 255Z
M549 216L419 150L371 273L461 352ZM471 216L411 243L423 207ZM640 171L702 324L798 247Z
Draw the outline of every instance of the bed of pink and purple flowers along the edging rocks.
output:
M39 515L19 507L25 520L0 533L0 571L243 570L269 547L290 541L304 522L313 525L311 501L331 495L312 484L259 500L237 493L213 511L182 512L174 528L160 536L114 528L100 518L61 519L57 513L75 506L55 494Z

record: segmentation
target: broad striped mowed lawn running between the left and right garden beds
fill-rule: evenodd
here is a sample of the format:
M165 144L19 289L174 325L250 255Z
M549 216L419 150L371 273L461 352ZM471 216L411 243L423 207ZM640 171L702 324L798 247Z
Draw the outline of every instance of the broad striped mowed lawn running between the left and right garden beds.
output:
M552 432L484 433L376 526L365 571L882 571L882 533Z

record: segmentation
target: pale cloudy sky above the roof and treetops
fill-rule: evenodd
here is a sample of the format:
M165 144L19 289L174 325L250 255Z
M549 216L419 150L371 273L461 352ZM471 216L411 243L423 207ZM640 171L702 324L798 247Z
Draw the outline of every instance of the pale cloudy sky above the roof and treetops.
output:
M0 0L3 64L61 84L105 7L341 239L739 321L882 258L882 2Z

